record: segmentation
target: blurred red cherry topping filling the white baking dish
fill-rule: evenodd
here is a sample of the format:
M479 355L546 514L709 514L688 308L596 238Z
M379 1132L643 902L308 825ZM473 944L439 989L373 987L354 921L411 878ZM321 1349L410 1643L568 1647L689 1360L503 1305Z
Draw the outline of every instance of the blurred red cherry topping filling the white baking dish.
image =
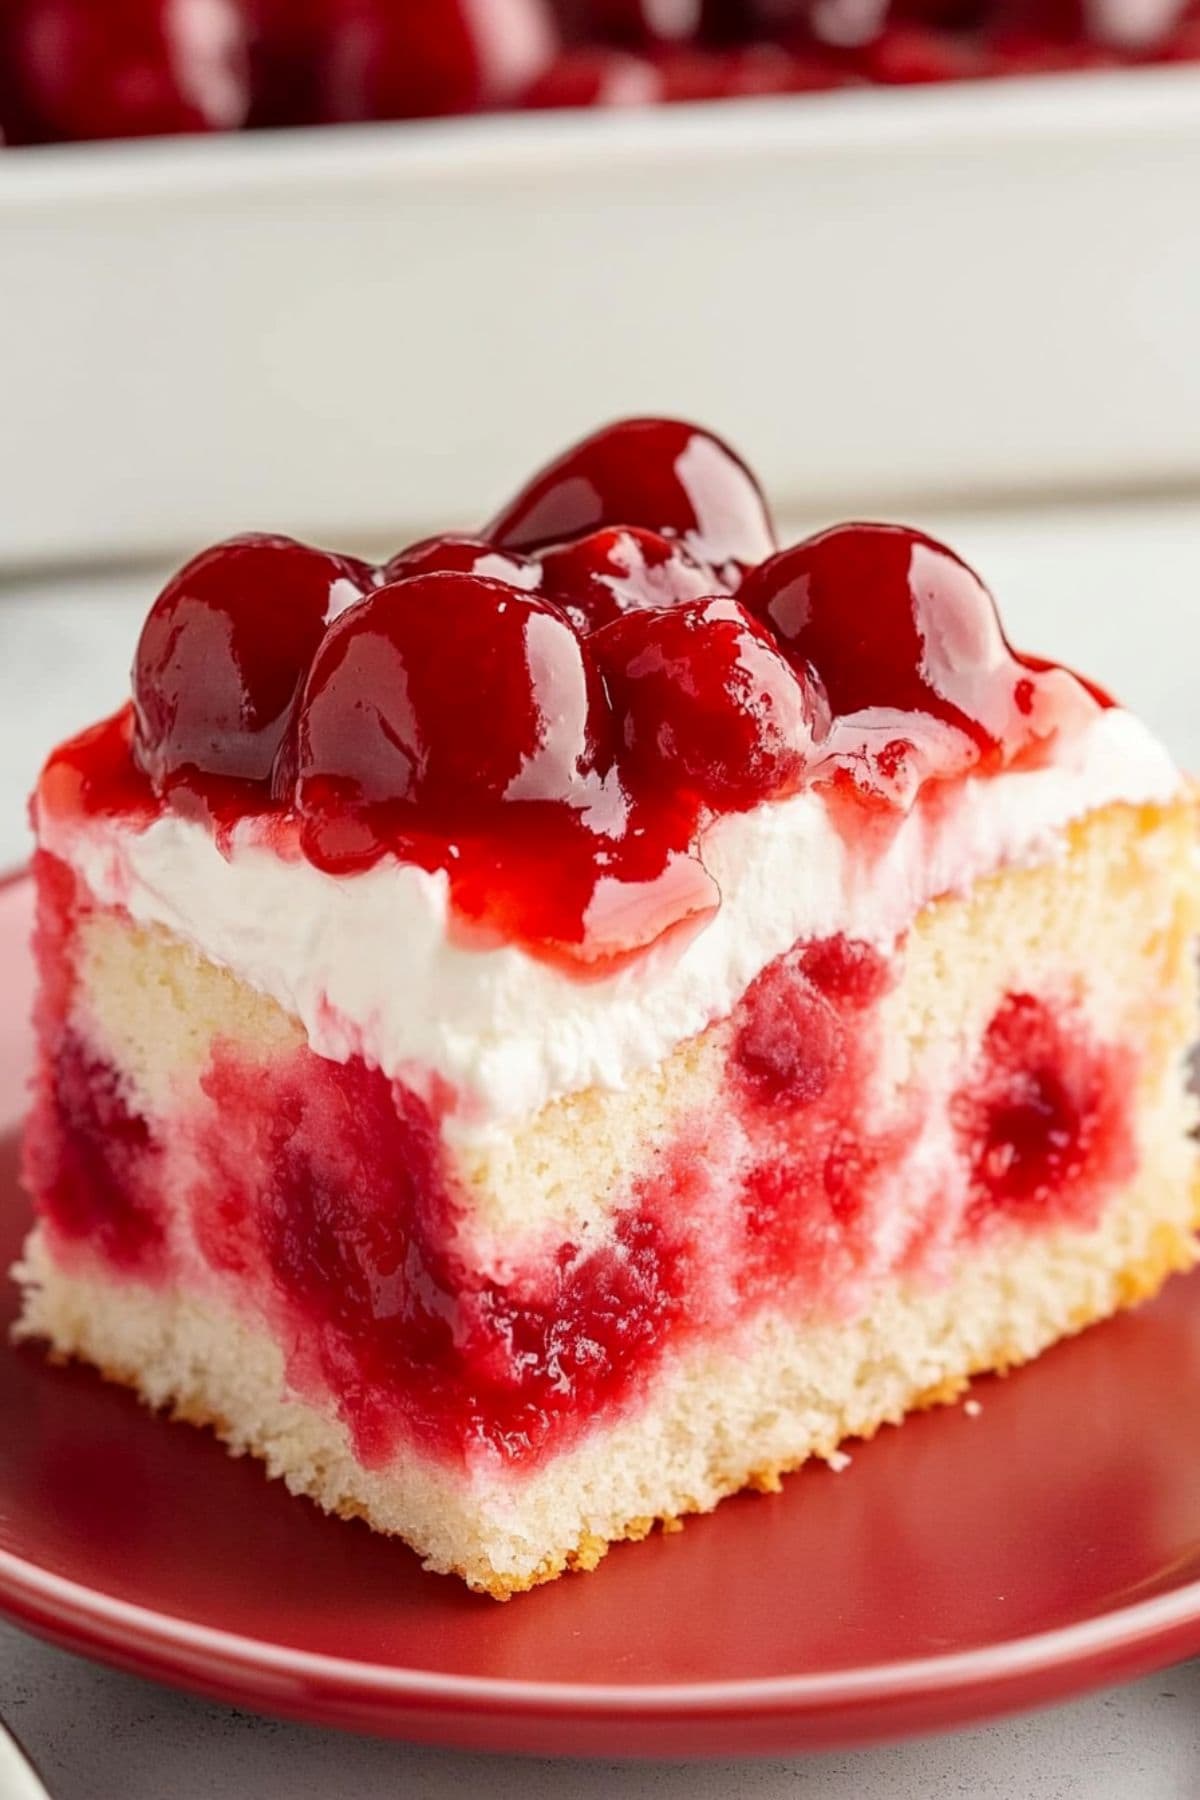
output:
M673 104L1198 54L1186 0L5 0L0 140Z

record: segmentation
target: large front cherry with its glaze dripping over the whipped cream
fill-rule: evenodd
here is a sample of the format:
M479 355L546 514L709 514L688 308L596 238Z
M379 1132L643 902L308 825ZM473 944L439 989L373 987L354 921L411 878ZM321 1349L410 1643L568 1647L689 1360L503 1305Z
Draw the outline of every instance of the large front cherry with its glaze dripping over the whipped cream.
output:
M462 925L608 968L714 905L687 853L694 803L637 808L612 751L599 675L556 607L477 576L407 580L313 664L300 842L333 873L389 850L444 868Z

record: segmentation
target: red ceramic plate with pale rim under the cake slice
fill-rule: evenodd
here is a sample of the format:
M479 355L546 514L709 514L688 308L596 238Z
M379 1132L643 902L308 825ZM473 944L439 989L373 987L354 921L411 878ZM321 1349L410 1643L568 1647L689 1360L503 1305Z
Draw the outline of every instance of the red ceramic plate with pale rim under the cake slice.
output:
M29 898L0 889L0 1267L27 1224ZM844 1474L495 1606L90 1372L5 1348L0 1606L239 1705L578 1755L934 1730L1200 1651L1196 1280L975 1397L977 1417L912 1418Z

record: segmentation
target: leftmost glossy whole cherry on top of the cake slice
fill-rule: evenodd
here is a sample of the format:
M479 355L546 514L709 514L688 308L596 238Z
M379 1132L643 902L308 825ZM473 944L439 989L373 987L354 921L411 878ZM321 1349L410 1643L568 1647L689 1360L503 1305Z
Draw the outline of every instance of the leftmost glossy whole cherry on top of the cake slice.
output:
M133 754L151 781L270 781L326 621L369 581L363 563L281 536L230 538L180 569L133 661Z

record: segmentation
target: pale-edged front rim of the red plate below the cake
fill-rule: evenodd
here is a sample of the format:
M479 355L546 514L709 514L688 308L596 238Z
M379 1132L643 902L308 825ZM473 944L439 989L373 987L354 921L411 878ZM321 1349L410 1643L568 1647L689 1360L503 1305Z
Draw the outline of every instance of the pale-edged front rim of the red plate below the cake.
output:
M29 864L0 869L0 896L23 884L32 884ZM2 1273L7 1278L7 1271ZM1200 1271L1193 1280L1200 1283ZM4 1350L13 1354L7 1341ZM515 1604L520 1606L522 1598L516 1597ZM0 1616L94 1660L124 1661L176 1685L237 1694L255 1706L326 1724L353 1723L349 1715L354 1708L362 1717L363 1706L399 1710L405 1705L430 1714L439 1708L441 1719L464 1719L473 1712L477 1717L502 1714L515 1723L597 1724L624 1719L631 1724L658 1721L669 1728L698 1717L745 1719L747 1714L799 1723L824 1714L855 1715L867 1706L903 1708L921 1699L937 1699L943 1710L950 1708L966 1724L1004 1712L1006 1705L1020 1706L1022 1697L1036 1703L1036 1696L1031 1701L1020 1683L1040 1676L1065 1678L1043 1694L1049 1701L1200 1652L1200 1575L1067 1625L973 1649L730 1681L534 1681L304 1651L122 1600L2 1544ZM1162 1656L1155 1658L1157 1649ZM1069 1679L1072 1674L1078 1679ZM295 1694L288 1705L286 1683L299 1687L302 1705ZM1016 1697L1011 1697L1013 1690L1018 1690ZM990 1701L982 1697L986 1694L991 1694ZM378 1710L372 1721L385 1728ZM909 1726L919 1728L919 1723ZM838 1741L900 1735L903 1730L903 1724L889 1728L883 1723L869 1733L851 1728ZM610 1753L621 1755L621 1750Z

